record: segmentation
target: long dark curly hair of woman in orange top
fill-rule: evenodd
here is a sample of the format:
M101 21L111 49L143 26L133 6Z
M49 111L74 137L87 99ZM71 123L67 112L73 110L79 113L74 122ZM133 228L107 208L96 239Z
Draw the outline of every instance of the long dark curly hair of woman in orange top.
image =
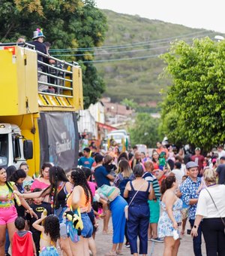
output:
M76 187L76 186L83 187L83 190L86 194L86 203L89 203L90 198L91 198L91 200L93 200L92 190L89 187L89 183L86 180L86 175L85 175L83 169L78 168L78 167L71 169L71 179L74 183L74 187Z

